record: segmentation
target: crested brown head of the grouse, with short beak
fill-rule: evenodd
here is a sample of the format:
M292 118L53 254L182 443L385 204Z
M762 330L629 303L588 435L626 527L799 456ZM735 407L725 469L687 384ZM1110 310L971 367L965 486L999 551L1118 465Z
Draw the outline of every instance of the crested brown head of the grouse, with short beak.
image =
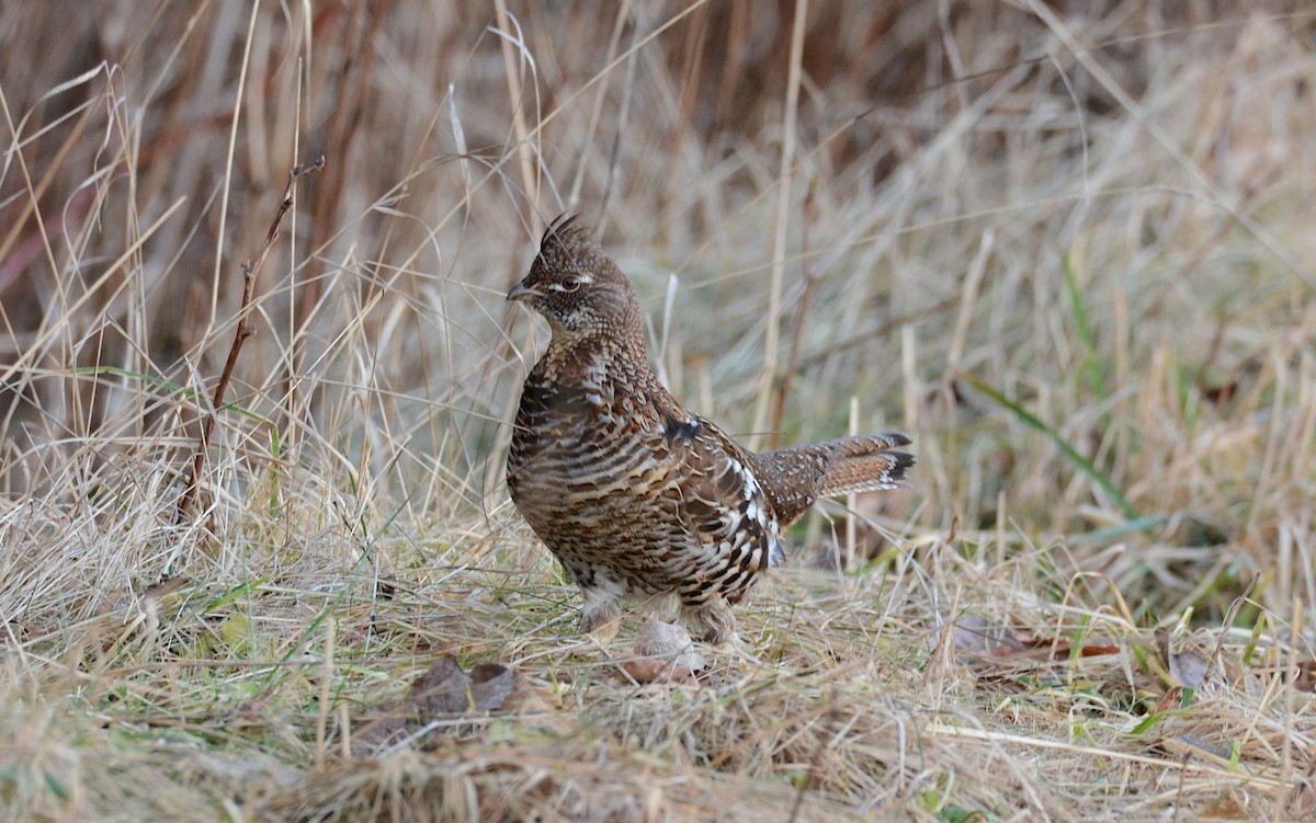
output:
M549 225L530 273L507 298L529 304L561 341L638 327L630 281L574 216Z

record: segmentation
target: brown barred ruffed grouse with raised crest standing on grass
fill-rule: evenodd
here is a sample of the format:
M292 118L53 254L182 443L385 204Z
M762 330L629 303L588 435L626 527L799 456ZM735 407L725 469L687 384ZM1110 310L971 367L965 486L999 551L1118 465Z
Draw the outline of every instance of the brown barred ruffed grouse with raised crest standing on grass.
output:
M582 631L622 598L679 606L696 638L729 640L730 606L786 555L779 535L819 497L903 485L896 433L753 454L687 412L649 368L630 281L592 233L559 218L508 292L553 339L525 380L507 485L584 594Z

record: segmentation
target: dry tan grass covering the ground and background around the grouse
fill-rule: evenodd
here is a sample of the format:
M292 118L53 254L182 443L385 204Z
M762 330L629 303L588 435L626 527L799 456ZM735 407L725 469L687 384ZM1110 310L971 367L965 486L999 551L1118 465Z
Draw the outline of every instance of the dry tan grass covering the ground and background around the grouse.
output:
M1316 12L1055 5L0 8L0 816L1316 815ZM701 682L503 490L565 209L695 408L916 438Z

